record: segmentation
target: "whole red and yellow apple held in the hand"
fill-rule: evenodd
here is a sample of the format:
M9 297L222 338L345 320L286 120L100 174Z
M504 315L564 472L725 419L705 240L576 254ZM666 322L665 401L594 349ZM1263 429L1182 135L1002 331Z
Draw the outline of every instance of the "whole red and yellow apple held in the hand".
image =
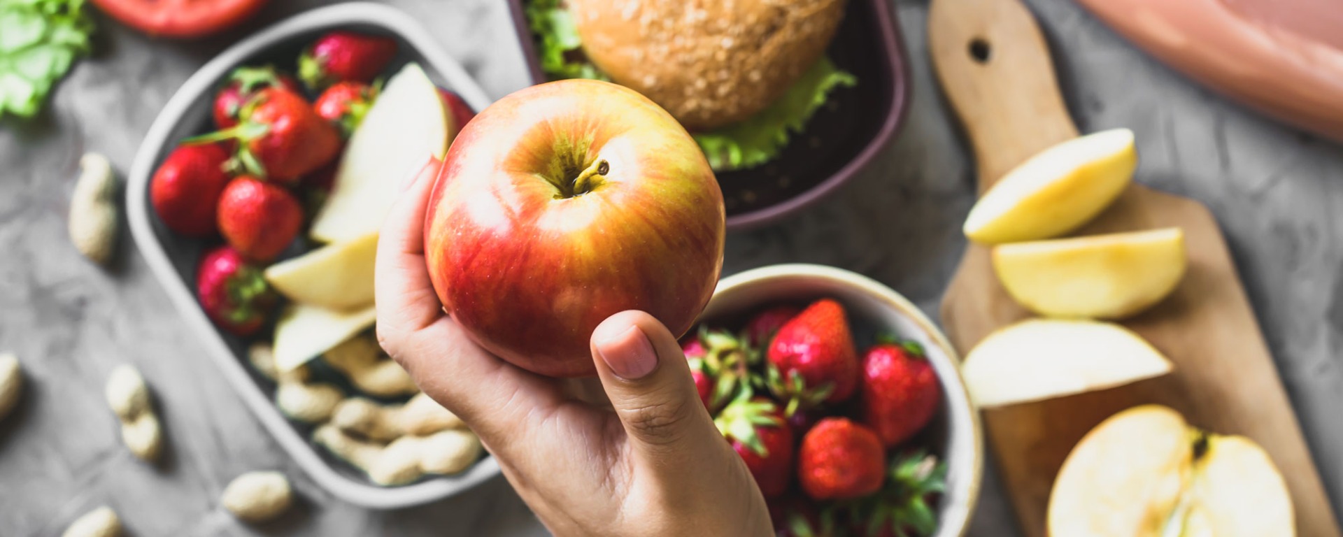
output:
M475 115L424 220L445 310L486 350L556 377L596 375L588 338L611 314L689 330L723 242L723 192L690 134L633 90L579 79Z

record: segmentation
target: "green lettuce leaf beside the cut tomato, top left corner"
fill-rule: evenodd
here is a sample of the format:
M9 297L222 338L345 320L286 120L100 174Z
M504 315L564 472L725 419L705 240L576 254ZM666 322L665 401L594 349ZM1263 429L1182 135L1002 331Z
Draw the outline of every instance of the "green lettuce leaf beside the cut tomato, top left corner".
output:
M0 0L0 118L36 115L91 32L85 0Z

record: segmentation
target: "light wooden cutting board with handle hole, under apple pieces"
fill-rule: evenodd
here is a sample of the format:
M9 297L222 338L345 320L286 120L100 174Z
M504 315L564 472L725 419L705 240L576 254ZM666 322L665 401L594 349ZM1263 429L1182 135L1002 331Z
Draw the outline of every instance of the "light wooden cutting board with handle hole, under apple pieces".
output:
M1045 40L1018 0L933 0L928 26L937 78L974 146L980 193L1031 154L1077 136ZM1077 234L1168 226L1185 230L1189 273L1168 299L1124 325L1166 353L1175 372L984 412L998 469L1025 533L1045 536L1054 475L1086 431L1124 408L1159 403L1183 412L1195 427L1246 435L1264 446L1292 493L1297 533L1338 537L1338 522L1273 357L1207 208L1135 184ZM988 248L971 246L943 299L941 317L964 354L988 332L1030 314L1002 289Z

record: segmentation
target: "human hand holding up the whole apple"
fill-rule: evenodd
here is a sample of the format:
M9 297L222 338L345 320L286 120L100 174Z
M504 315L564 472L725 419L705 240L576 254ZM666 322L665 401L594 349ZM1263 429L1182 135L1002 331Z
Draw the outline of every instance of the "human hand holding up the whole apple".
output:
M551 379L477 346L424 266L430 161L383 224L377 340L461 416L557 536L771 536L764 498L700 403L676 337L642 311L592 333L598 379Z

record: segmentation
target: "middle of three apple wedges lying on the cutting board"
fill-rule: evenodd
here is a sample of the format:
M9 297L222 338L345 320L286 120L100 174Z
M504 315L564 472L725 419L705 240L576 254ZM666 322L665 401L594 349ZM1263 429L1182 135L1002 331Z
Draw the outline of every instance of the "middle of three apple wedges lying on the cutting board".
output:
M1049 317L1123 318L1160 302L1185 277L1185 231L1034 240L994 247L994 271L1026 309Z

